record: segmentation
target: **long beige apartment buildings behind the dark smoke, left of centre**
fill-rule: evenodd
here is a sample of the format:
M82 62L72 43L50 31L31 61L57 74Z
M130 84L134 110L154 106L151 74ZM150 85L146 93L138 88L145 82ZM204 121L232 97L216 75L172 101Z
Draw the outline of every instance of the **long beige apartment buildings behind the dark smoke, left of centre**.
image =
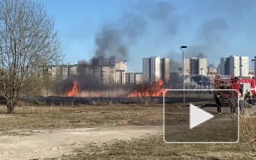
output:
M78 63L75 65L62 64L47 66L40 74L49 77L60 77L67 79L72 75L89 75L98 79L103 84L125 84L125 72L127 72L127 61L118 59L115 56L104 58L102 56L93 58L92 64Z

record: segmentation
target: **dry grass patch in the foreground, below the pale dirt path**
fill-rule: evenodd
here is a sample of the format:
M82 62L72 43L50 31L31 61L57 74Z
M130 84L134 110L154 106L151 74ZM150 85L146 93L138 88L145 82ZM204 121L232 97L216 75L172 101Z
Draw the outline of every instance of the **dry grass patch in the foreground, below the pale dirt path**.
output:
M243 144L166 144L161 135L133 141L91 144L63 159L248 159Z

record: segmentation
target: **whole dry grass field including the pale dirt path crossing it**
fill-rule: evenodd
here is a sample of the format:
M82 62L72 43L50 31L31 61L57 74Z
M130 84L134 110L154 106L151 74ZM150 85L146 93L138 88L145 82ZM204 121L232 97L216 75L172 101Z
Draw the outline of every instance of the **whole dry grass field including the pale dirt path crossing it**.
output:
M183 109L169 107L174 115L183 114ZM14 115L5 112L1 106L0 159L247 159L242 142L165 144L163 105L19 107Z

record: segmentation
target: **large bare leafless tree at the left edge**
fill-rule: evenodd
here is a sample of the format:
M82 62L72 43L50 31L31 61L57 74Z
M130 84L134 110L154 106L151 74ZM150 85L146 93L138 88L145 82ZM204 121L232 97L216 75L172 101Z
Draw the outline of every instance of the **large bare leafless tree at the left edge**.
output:
M40 89L36 83L39 68L62 58L54 20L43 3L0 1L0 93L7 101L8 114L19 99Z

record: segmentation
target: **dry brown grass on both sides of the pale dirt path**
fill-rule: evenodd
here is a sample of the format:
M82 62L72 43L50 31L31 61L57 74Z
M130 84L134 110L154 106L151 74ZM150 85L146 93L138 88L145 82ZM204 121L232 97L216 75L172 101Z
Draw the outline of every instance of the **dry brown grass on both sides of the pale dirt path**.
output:
M204 104L204 103L202 103ZM179 104L175 104L179 105ZM184 109L171 105L173 112ZM4 114L0 107L0 128L65 129L102 125L163 125L163 106L83 106L83 107L19 107L14 115ZM179 125L178 125L179 127ZM4 133L2 133L4 134ZM132 141L110 141L102 145L89 144L62 159L247 159L243 142L238 144L165 144L163 135Z

